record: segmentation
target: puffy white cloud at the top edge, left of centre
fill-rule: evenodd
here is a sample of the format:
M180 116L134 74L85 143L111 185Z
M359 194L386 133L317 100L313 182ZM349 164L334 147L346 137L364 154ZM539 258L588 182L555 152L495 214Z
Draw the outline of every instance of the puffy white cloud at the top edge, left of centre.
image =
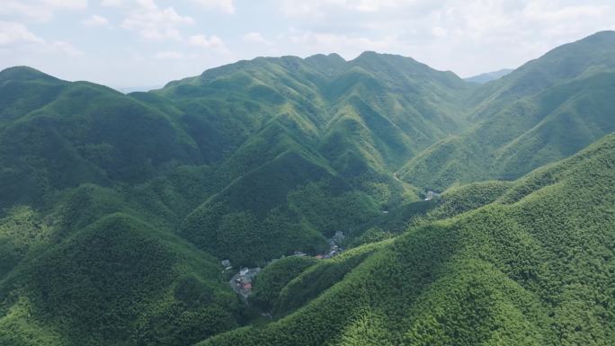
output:
M180 15L173 7L161 9L153 0L138 0L138 8L126 17L121 27L137 31L145 39L181 40L183 37L177 27L192 23L191 17Z

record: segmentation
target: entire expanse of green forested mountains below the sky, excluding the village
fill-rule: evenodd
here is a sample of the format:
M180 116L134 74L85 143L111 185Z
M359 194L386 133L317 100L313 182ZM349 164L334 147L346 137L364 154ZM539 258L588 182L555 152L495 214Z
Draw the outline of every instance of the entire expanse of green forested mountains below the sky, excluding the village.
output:
M614 343L614 68L602 31L485 84L369 51L129 94L5 69L0 343ZM255 304L219 264L337 231Z

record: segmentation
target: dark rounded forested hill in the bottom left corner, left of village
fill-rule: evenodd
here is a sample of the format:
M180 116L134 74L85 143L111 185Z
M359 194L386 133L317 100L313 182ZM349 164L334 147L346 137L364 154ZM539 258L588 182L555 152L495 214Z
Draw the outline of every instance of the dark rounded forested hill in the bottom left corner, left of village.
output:
M190 344L237 325L237 297L219 272L174 236L111 214L2 281L0 340Z

